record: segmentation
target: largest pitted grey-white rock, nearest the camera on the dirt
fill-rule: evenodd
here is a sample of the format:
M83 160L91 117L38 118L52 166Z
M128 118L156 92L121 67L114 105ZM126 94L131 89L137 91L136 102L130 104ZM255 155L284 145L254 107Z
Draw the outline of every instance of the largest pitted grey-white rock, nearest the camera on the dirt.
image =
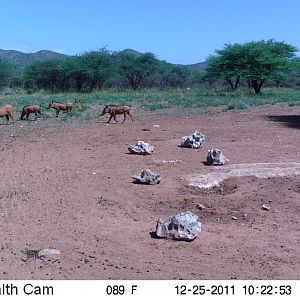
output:
M198 216L190 211L181 212L168 220L158 220L156 235L161 238L180 241L192 241L201 232L201 223Z

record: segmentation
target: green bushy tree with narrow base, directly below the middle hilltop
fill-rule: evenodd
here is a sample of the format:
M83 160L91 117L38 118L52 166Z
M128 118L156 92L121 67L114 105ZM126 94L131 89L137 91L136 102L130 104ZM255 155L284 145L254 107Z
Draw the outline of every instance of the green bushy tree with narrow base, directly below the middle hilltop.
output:
M159 66L159 61L152 53L141 55L118 53L118 72L126 78L132 89L140 87L143 80L154 74Z

